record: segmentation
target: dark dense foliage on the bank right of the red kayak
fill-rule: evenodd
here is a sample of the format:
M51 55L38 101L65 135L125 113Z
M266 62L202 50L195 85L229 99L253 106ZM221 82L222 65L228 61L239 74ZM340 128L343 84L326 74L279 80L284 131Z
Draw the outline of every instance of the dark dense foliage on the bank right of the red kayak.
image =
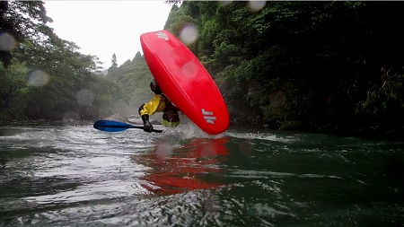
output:
M177 35L198 28L189 48L232 126L402 135L404 4L255 3L185 1L166 24Z

